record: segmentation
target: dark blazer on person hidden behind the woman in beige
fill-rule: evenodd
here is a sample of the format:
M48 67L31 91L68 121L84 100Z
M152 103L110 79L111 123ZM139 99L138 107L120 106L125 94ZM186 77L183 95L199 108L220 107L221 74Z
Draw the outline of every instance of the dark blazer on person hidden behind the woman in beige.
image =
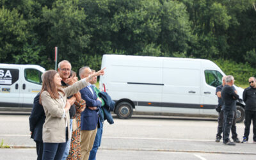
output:
M42 140L43 125L45 120L44 108L39 104L40 93L38 93L34 99L33 108L29 116L29 127L32 132L31 138L35 141Z

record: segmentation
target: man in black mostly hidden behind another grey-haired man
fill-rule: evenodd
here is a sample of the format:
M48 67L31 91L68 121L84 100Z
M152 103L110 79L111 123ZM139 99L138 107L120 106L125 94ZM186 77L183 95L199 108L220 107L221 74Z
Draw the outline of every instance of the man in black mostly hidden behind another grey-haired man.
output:
M220 142L222 136L221 133L223 131L223 101L221 99L221 90L223 88L223 86L225 86L226 82L225 82L225 78L227 76L223 76L222 77L222 84L220 86L217 86L216 88L216 95L218 97L218 105L216 107L216 111L218 111L219 113L219 117L218 117L218 131L216 134L216 142ZM237 93L236 88L234 88L234 86L231 86L233 88L233 90ZM241 141L237 138L237 133L236 133L236 112L235 112L235 116L233 119L233 123L232 123L232 127L231 127L231 132L232 132L232 139L234 140L234 142L236 143L241 143Z

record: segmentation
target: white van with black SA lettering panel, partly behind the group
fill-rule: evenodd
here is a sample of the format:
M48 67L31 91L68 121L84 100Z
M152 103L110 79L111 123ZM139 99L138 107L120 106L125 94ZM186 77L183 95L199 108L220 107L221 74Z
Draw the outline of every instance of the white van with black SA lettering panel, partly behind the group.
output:
M0 111L31 111L42 88L39 65L0 64Z

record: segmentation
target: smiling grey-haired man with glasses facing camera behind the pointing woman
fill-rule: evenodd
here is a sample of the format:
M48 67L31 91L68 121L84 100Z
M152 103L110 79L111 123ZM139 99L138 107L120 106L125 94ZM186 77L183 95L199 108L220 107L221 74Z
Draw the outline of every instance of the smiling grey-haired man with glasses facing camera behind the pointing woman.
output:
M67 60L63 60L58 63L58 73L61 77L61 86L67 87L72 85L74 81L70 78L70 71L71 71L71 63ZM68 97L68 102L71 104L69 109L69 116L70 116L70 132L72 133L72 118L76 115L76 107L74 106L74 102L76 101L76 97L71 96ZM68 156L68 152L70 149L70 141L68 140L65 152L63 154L62 159L66 159Z

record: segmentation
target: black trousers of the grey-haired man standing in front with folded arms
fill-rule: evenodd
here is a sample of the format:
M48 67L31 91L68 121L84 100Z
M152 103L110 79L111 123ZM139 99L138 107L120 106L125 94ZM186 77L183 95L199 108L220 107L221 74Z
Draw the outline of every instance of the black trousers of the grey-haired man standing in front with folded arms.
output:
M223 143L226 143L227 141L229 141L229 134L233 124L235 112L236 111L224 110Z

